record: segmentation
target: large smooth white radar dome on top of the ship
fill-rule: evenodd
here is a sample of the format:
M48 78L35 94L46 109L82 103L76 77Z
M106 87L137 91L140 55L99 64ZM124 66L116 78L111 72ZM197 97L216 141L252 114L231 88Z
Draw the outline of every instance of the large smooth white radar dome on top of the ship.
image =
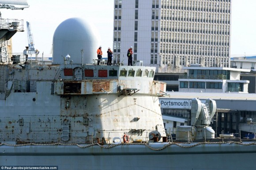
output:
M53 35L53 64L64 64L67 54L73 64L92 63L97 59L98 37L94 26L81 18L61 22Z

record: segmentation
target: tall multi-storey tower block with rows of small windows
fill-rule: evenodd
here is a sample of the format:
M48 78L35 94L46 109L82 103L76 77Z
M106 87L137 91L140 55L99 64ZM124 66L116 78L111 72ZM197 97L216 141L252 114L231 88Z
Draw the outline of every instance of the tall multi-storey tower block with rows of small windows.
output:
M157 67L230 66L231 0L115 0L113 60Z

